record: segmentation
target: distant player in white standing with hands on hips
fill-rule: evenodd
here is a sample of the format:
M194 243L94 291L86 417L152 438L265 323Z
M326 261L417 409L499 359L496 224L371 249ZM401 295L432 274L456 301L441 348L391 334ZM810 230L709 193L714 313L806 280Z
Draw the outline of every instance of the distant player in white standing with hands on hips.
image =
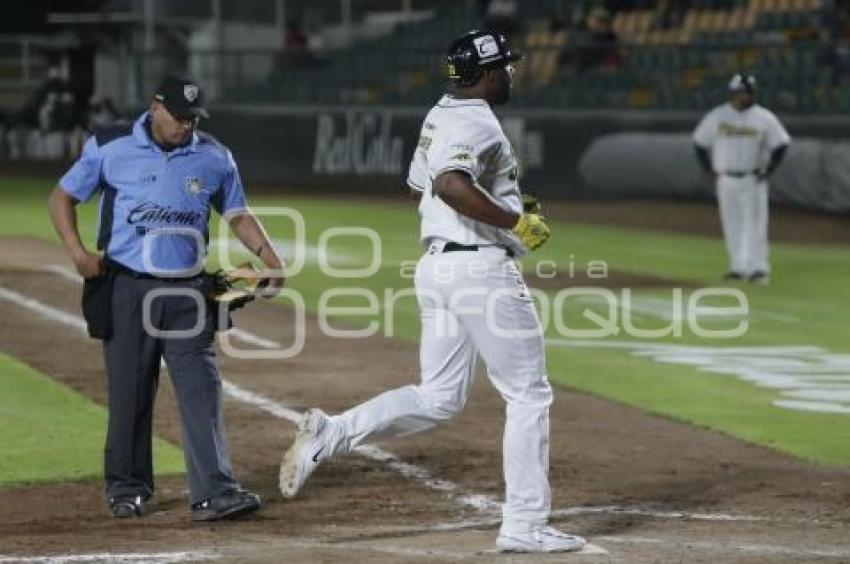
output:
M694 131L697 157L717 186L727 279L767 284L768 178L791 137L773 113L755 104L756 80L736 74L729 102L711 110Z

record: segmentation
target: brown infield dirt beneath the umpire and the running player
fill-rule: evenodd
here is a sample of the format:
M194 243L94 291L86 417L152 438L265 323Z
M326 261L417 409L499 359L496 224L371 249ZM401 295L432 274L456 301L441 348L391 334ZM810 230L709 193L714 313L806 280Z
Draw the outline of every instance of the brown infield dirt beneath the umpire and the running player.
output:
M0 299L4 327L13 328L0 333L0 350L102 404L98 343L49 313L79 316L79 283L40 270L46 265L68 267L55 247L0 240L0 288L47 306L36 313L34 302ZM268 304L246 308L238 325L281 343L293 338L292 313ZM416 380L414 344L367 341L329 339L308 320L306 347L296 358L221 355L221 366L228 382L268 405L337 412ZM167 382L164 375L156 430L179 443ZM108 516L97 482L4 488L0 562L107 552L148 554L152 562L168 561L152 553L172 552L232 562L850 562L850 471L569 390L556 392L551 412L554 521L588 536L598 550L558 558L490 552L498 511L465 501L498 500L502 490L503 404L483 374L457 419L381 445L454 489L441 489L421 473L405 474L398 464L351 454L320 467L303 497L284 503L277 464L294 426L258 405L256 398L251 404L233 395L225 405L237 474L266 500L256 517L190 523L179 477L161 479L151 514L131 522Z

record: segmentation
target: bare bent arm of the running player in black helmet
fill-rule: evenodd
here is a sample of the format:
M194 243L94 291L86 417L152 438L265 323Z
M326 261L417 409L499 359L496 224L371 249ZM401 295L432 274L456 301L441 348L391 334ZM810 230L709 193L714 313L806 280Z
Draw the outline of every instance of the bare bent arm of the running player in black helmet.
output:
M450 208L476 221L503 229L511 229L519 221L519 214L499 207L464 172L440 173L434 180L434 192Z

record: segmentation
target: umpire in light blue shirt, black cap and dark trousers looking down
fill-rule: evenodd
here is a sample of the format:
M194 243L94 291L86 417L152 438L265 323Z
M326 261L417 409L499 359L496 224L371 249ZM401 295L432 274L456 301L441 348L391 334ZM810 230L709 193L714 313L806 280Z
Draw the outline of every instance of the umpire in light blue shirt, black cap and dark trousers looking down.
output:
M266 295L280 291L282 263L247 208L230 151L197 129L201 117L208 113L197 84L165 78L134 123L89 138L49 200L53 224L86 279L89 331L104 340L105 481L115 517L141 516L154 493L153 407L162 359L180 410L192 519L260 507L259 496L243 490L231 469L213 348L217 315L196 299L206 280L201 265L210 208L272 269L261 273ZM75 207L95 194L102 256L87 250L77 231Z

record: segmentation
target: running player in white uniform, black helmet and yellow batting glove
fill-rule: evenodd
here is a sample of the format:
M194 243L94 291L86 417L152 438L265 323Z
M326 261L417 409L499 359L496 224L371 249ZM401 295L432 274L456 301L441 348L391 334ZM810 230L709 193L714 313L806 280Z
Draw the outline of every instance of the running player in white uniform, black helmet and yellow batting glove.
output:
M552 390L537 313L511 259L541 245L548 228L536 213L523 213L517 161L490 107L508 101L510 63L520 58L494 33L457 39L448 56L454 92L422 126L408 177L422 191L427 249L415 275L421 383L335 417L309 410L281 465L284 496L295 495L322 460L382 437L430 429L458 413L480 354L507 403L499 549L555 552L585 545L547 526Z

